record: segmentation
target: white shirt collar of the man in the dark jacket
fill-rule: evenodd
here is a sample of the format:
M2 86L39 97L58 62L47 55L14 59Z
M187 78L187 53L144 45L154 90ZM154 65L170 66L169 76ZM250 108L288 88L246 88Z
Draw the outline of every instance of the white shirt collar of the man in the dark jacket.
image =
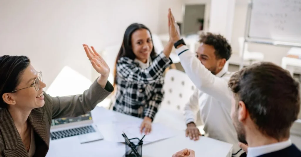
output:
M256 157L263 154L268 154L270 152L276 152L278 150L287 148L292 145L290 140L268 144L264 146L257 146L257 147L249 147L247 157Z

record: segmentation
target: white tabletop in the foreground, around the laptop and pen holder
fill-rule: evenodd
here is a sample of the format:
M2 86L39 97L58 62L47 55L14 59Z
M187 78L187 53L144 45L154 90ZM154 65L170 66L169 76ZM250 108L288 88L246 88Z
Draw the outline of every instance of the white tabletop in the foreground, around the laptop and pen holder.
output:
M133 116L106 110L103 107L95 107L92 111L92 118L96 124L141 120ZM104 135L104 140L80 144L78 138L68 137L53 145L50 142L47 157L122 157L125 153L125 144L107 141L105 134L108 134L106 130L110 129L99 128L99 130ZM171 157L173 153L184 148L193 149L196 156L202 157L231 157L232 154L232 144L230 143L208 137L201 137L200 140L193 141L185 137L184 131L178 130L178 135L175 137L143 145L142 156Z

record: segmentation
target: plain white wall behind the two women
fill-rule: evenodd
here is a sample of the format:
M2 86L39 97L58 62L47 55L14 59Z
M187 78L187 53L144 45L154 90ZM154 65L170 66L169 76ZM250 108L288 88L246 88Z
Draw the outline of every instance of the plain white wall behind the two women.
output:
M126 27L134 22L166 33L169 7L180 17L182 0L1 1L0 56L29 56L48 87L65 66L93 81L98 75L83 43L97 51L121 44Z

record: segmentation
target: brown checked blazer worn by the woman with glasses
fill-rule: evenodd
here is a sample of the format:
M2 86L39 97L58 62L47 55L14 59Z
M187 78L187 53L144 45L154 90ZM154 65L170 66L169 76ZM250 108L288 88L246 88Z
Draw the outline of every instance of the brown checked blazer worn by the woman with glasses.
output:
M108 81L102 88L97 81L81 95L51 97L44 92L45 105L33 109L28 122L34 129L36 142L35 157L46 156L49 149L51 119L76 117L86 114L113 91ZM28 153L14 125L11 114L0 108L0 157L28 157Z

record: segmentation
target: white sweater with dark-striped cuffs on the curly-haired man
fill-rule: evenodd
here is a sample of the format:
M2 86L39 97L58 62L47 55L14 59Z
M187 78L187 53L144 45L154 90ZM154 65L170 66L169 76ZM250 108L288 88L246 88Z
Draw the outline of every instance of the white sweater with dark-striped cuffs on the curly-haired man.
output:
M244 151L239 151L237 133L230 116L232 91L228 87L228 80L231 73L222 69L218 74L212 74L187 46L179 47L176 53L186 74L198 89L185 106L186 123L195 122L195 115L200 110L206 134L233 144L232 153L238 152L234 156L240 156Z

